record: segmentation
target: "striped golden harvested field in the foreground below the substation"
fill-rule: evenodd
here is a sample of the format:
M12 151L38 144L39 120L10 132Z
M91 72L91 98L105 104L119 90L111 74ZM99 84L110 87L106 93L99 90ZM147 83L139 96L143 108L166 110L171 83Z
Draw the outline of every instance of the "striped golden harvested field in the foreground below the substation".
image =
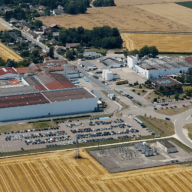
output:
M0 160L0 191L190 192L192 167L170 165L110 174L85 150Z

